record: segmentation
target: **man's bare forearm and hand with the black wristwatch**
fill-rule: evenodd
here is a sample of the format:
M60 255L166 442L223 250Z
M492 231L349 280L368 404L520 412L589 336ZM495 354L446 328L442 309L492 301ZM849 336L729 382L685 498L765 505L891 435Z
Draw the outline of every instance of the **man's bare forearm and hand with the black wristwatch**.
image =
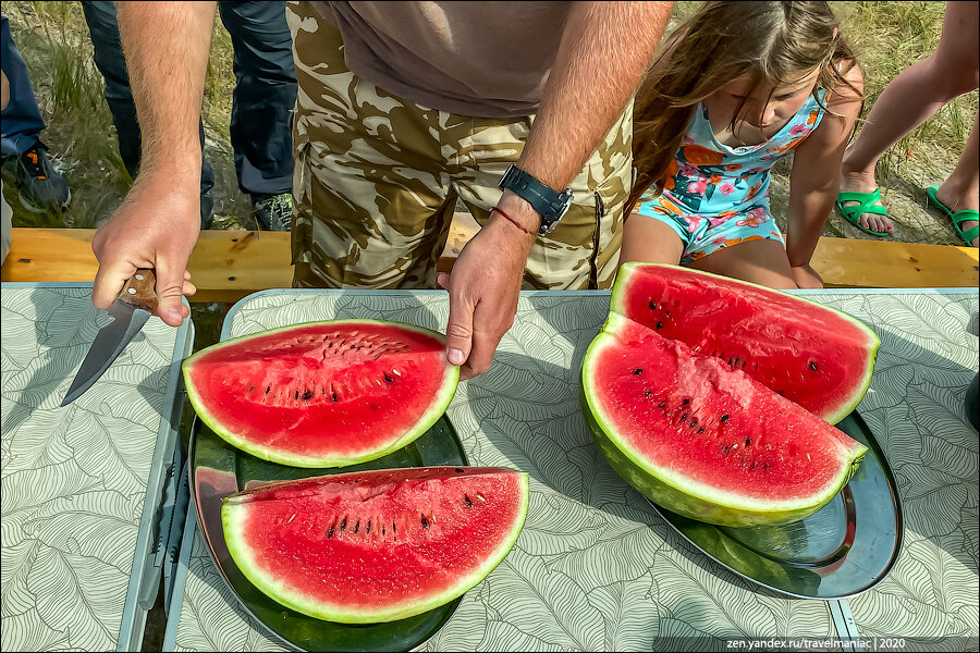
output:
M583 169L626 107L647 70L672 2L579 2L562 42L517 165L558 190ZM524 268L541 217L505 192L499 206L523 227L493 214L463 248L451 275L446 357L462 378L485 372L517 310Z

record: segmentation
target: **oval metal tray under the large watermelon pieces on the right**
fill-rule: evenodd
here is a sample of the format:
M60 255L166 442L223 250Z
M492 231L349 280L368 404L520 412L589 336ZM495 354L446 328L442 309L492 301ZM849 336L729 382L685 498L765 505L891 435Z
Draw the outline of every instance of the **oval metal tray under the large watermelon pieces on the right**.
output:
M838 429L868 446L828 505L782 526L728 528L658 513L688 542L738 576L801 599L844 599L881 582L902 549L902 504L884 452L857 414Z

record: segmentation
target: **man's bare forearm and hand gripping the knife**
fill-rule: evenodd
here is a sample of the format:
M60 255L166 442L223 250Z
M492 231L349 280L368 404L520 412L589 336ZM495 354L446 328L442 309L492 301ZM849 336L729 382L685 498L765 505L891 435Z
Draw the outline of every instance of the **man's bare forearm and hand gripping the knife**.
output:
M198 122L216 3L118 2L119 32L143 134L140 172L96 234L91 300L109 308L137 268L157 273L157 313L179 325L193 294L187 258L200 225Z

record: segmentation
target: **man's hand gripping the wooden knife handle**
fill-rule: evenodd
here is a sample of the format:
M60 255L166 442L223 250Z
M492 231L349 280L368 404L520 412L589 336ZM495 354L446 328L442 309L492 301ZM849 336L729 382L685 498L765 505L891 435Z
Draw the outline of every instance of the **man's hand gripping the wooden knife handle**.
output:
M99 260L91 291L96 307L110 308L137 268L151 268L160 319L180 326L189 315L181 297L196 292L187 259L200 230L200 194L197 186L184 186L140 175L123 205L96 233L91 242Z

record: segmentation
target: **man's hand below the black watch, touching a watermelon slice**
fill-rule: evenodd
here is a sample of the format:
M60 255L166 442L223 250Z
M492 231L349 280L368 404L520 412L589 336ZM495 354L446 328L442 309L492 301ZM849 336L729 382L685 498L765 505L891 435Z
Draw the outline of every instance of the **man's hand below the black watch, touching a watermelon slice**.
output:
M535 243L535 230L525 226L530 234L491 214L460 252L452 275L439 275L439 285L450 294L446 358L463 366L461 379L490 369L500 338L514 323L524 268Z

